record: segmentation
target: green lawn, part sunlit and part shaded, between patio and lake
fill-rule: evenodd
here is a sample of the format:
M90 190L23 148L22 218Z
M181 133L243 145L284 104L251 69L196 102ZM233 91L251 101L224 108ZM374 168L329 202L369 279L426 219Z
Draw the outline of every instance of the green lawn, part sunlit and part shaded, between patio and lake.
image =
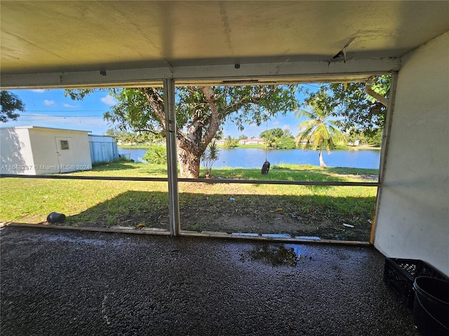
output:
M266 176L260 169L213 169L212 173L224 179L368 181L375 179L378 171L280 165L273 166ZM166 177L166 167L116 162L71 175ZM2 222L42 223L56 211L67 216L66 225L168 228L166 182L1 179L0 183ZM183 230L290 233L363 241L369 237L377 192L375 187L193 182L180 183L179 190Z

